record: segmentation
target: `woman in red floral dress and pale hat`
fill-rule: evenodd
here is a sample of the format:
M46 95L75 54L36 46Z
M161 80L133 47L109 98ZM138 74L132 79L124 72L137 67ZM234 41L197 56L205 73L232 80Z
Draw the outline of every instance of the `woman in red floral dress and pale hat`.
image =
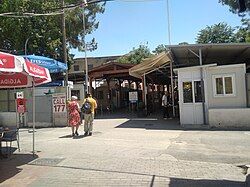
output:
M80 107L79 104L76 102L77 97L72 96L71 101L68 103L68 110L69 110L69 125L72 129L72 136L78 136L78 128L81 124L81 117L79 114Z

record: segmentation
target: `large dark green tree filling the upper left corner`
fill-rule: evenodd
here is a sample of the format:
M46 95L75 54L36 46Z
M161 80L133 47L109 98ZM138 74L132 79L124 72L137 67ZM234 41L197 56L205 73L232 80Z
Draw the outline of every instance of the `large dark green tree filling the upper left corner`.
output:
M78 0L65 0L65 6L79 3ZM33 0L3 0L0 13L53 13L62 10L61 1ZM96 15L104 12L104 4L92 4L85 8L86 33L90 34L98 28ZM83 50L83 20L81 7L65 10L67 51L76 48ZM63 61L61 15L33 17L1 17L0 19L0 49L17 54L24 54L25 41L28 43L28 53L44 55ZM72 55L68 53L68 58Z

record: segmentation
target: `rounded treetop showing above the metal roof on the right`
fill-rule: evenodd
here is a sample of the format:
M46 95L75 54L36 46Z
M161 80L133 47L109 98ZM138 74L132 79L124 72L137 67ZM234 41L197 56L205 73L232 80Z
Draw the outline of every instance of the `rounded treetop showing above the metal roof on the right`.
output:
M226 23L206 26L199 31L197 43L232 43L235 42L234 29Z

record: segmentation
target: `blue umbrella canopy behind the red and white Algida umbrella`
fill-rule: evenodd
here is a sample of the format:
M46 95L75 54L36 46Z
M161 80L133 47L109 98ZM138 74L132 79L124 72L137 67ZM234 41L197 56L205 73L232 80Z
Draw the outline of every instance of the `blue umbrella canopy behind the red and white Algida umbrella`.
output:
M52 58L36 55L24 55L30 62L47 68L50 73L65 72L68 69L67 64L54 60Z

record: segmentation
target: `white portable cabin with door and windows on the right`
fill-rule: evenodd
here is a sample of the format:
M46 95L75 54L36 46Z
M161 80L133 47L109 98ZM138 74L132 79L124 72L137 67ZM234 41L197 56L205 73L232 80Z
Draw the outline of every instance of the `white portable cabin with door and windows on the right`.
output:
M245 64L209 64L175 71L178 73L181 125L206 123L210 126L250 127Z

